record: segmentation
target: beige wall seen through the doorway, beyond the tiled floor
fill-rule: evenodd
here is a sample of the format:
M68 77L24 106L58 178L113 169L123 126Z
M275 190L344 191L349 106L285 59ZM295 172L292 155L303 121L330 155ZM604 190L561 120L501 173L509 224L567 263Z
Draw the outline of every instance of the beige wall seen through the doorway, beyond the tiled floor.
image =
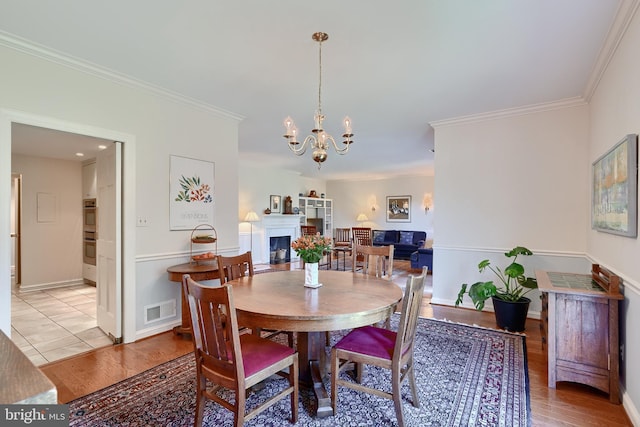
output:
M82 283L82 165L11 156L22 174L21 288ZM38 220L38 193L55 198L51 222Z

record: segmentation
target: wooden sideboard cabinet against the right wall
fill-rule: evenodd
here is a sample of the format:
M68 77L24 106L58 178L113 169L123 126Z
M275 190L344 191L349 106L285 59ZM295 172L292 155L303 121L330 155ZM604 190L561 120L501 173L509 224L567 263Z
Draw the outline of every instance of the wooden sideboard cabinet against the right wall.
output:
M549 387L586 384L620 403L618 305L620 278L593 264L591 274L536 271L542 292L540 329Z

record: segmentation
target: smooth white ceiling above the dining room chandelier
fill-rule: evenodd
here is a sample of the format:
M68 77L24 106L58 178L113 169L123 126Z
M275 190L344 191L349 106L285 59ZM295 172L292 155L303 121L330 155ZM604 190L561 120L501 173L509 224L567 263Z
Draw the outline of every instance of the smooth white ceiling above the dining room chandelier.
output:
M431 122L585 98L630 1L0 0L0 39L240 116L243 160L373 178L433 174ZM329 34L325 130L339 137L349 115L355 134L349 153L329 151L320 170L282 137L288 115L303 137L313 127L316 31ZM14 151L21 145L14 135Z

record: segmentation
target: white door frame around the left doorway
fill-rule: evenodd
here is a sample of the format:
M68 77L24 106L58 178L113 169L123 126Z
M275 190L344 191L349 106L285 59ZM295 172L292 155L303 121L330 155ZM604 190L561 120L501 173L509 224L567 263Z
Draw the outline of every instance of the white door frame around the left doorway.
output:
M121 141L122 144L122 334L124 342L136 338L135 319L135 136L97 126L83 125L18 110L0 109L0 206L11 204L11 124L22 123L77 133L80 135ZM126 183L126 185L124 185ZM11 249L9 209L0 209L0 253ZM0 330L11 336L11 260L0 257Z

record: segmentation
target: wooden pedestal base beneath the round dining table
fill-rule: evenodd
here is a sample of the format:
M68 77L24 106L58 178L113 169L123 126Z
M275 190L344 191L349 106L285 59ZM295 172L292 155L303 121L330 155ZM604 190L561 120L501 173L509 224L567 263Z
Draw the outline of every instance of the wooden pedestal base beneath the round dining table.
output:
M331 398L324 388L322 378L328 373L324 350L324 332L298 332L299 384L313 388L316 396L316 416L333 415Z

